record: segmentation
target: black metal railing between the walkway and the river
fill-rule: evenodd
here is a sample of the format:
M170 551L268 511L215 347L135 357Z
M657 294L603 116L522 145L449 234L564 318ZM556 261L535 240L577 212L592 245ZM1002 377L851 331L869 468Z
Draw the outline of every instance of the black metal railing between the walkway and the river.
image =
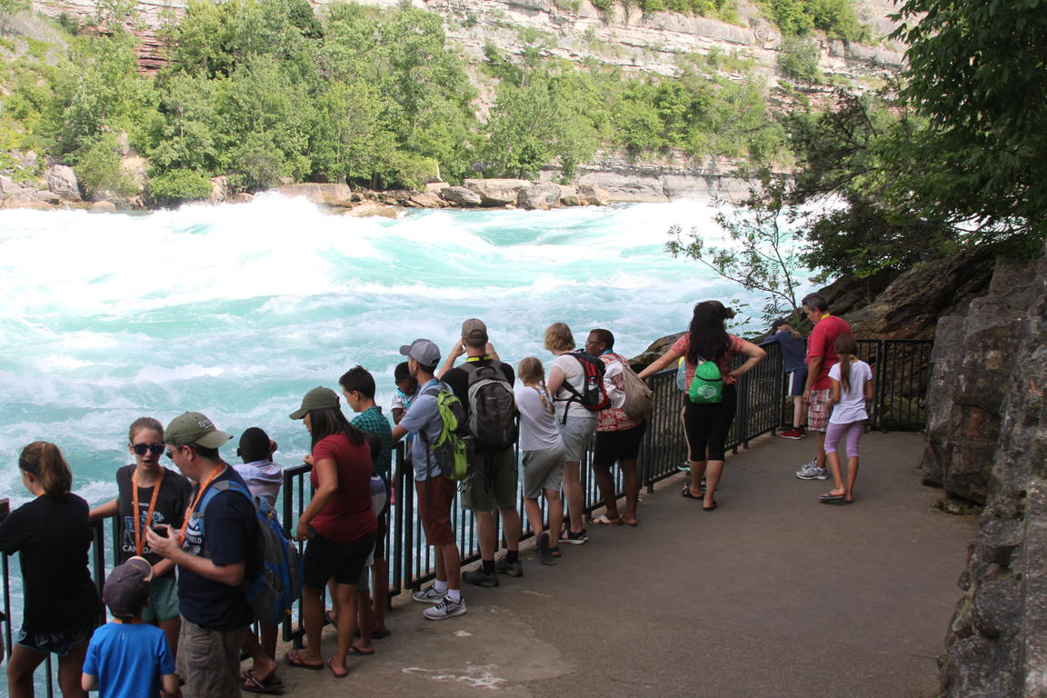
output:
M926 422L923 396L930 381L932 340L859 340L859 345L861 358L870 364L875 379L876 390L870 426L875 425L885 430L921 428ZM757 436L774 432L783 425L787 379L782 373L781 352L777 344L768 344L764 348L767 358L738 381L738 406L727 443L727 447L735 453L739 447L748 448L749 443ZM735 365L742 360L742 357L736 357ZM655 409L648 419L648 429L641 443L639 469L641 482L648 491L653 491L655 482L678 472L676 467L687 457L687 440L681 419L684 393L676 389L675 370L661 371L652 376L648 382L654 391ZM591 453L592 448L585 454L580 469L586 515L603 505L592 475ZM519 463L518 451L516 455ZM386 532L385 547L389 559L391 600L408 589L419 588L432 579L435 573L432 550L425 544L418 518L414 474L410 467L404 465L402 444L397 445L395 463L396 500L391 508L391 525ZM312 495L308 479L310 471L311 466L308 465L294 466L284 471L281 512L288 531L294 530L298 516ZM615 487L617 496L623 496L621 472L617 469ZM520 491L517 509L522 520L522 537L529 538L535 532L530 528L527 517L524 516L522 502L522 491ZM0 500L0 520L3 518L3 503L5 500ZM548 521L543 502L542 516L543 520ZM451 520L456 532L463 564L478 560L475 520L470 512L461 506L460 498L455 498ZM110 543L108 547L104 522L97 521L93 524L91 564L93 579L99 589L105 582L107 570L111 568L108 557L111 557L113 550L111 543L117 537L115 519L111 523L112 537L108 541ZM502 537L500 531L499 537ZM303 545L299 543L299 550L303 549ZM2 558L0 572L3 576L2 610L8 618L3 624L3 635L7 646L10 647L12 578L8 556L3 555L0 558ZM283 624L284 640L294 641L296 645L300 644L304 635L300 604L299 600L295 612ZM44 677L40 679L40 682L46 685L48 696L53 695L53 671L54 668L48 658Z

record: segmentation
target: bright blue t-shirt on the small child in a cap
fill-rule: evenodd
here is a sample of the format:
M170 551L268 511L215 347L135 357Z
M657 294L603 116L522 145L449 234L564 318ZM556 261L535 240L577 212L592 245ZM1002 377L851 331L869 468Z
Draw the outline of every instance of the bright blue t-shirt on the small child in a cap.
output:
M103 698L155 698L160 677L175 673L163 631L148 623L107 623L87 647L84 673L98 677Z

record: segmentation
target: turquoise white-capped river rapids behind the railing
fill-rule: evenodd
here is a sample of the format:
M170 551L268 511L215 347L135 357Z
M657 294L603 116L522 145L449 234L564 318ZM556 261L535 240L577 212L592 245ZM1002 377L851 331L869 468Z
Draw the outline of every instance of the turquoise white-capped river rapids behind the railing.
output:
M578 341L610 329L638 354L695 301L747 298L664 251L671 224L714 233L711 219L698 201L356 219L276 195L146 216L0 211L0 496L25 501L19 449L46 440L82 496L108 499L132 461L127 427L147 414L261 426L279 461L300 463L308 434L287 415L303 393L360 363L387 408L400 344L446 351L467 317L514 364L551 360L554 321Z

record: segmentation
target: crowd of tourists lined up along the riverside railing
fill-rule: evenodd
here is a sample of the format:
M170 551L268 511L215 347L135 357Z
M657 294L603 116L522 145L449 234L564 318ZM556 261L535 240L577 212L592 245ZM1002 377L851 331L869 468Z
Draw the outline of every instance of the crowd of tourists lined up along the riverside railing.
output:
M820 500L849 503L871 371L856 358L846 322L830 315L821 297L807 296L803 308L815 327L804 362L797 356L802 339L787 324L776 324L767 340L788 345L784 367L793 374L797 410L794 428L783 435L818 433L816 457L797 477L826 479L831 471L834 487ZM765 357L759 345L727 332L732 316L718 301L698 303L688 331L639 375L644 379L680 365L688 389L683 420L691 473L682 495L699 500L706 512L717 509L738 378ZM304 396L290 419L299 420L311 437L306 463L312 467L313 494L298 519L285 524L291 537L308 541L302 559L307 641L284 655L288 666L327 668L343 677L350 656L374 654L372 640L389 634L384 544L391 501L405 495L389 485L399 480L391 470L401 440L407 443L405 463L413 470L426 544L435 553L435 582L414 593L426 605L428 620L467 612L463 582L496 587L499 576L522 575L520 471L525 514L538 533L537 559L543 565L557 564L561 544L585 544L586 523L638 525L637 459L647 421L627 402L634 389L628 361L615 352L615 336L605 329L592 330L577 351L571 329L557 322L547 329L544 347L555 357L548 375L537 357L524 358L514 369L499 359L486 324L473 318L463 323L461 339L443 362L427 339L400 347L405 361L395 371L392 421L375 403L373 376L360 366L339 379L340 396L326 387ZM735 367L736 356L743 360ZM695 397L694 388L705 383L714 398ZM355 413L352 421L342 412L342 399ZM459 443L455 434L468 442L468 475L461 478L448 470L447 445ZM837 454L845 436L846 479ZM106 697L200 698L283 691L276 625L261 623L255 633L250 627L255 614L244 592L261 565L258 514L275 503L283 471L272 460L277 446L262 428L241 434L242 463L227 464L219 453L231 438L199 412L185 412L166 426L152 418L135 421L127 445L134 463L116 471L115 498L93 510L70 491L72 475L57 446L36 442L23 449L18 465L35 498L0 523L0 551L21 553L24 580L22 627L7 666L12 698L32 695L34 672L48 653L59 657L59 684L67 698L94 690ZM586 521L580 468L591 443L604 510ZM162 465L164 454L174 468ZM615 496L615 464L625 491L622 509ZM481 550L481 565L464 573L451 518L459 495L475 517ZM502 557L496 515L507 545ZM90 522L106 517L116 517L120 564L107 577L99 599L88 572ZM97 627L103 600L113 621ZM337 649L327 661L326 622L337 629ZM242 671L243 652L251 662Z

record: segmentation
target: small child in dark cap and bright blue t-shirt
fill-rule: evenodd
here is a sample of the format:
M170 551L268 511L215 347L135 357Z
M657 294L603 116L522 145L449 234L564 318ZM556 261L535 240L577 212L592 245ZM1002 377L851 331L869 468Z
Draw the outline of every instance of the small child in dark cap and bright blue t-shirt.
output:
M135 556L113 569L102 596L113 622L94 631L81 684L106 698L165 698L181 695L175 659L163 631L142 623L152 565Z

